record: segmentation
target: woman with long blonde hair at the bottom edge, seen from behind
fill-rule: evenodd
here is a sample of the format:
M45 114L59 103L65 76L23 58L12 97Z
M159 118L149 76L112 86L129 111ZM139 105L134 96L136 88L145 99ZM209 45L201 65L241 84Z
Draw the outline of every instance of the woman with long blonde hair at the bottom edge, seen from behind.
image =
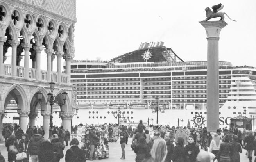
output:
M162 138L155 139L150 153L151 157L148 160L143 160L143 162L164 162L167 155L165 140Z

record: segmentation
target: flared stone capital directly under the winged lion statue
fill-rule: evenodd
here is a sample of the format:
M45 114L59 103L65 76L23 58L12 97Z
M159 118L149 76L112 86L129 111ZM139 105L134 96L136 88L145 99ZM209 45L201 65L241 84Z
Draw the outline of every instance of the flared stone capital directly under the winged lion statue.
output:
M220 31L224 28L227 23L223 20L221 21L201 21L199 22L206 30L207 38L219 38Z

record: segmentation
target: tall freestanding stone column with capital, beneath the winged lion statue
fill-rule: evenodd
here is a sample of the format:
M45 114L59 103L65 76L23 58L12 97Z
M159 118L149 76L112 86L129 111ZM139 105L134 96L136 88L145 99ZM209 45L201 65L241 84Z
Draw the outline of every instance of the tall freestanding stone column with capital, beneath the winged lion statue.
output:
M225 21L201 21L207 34L207 130L216 132L219 128L219 61L218 40L220 31L227 25Z

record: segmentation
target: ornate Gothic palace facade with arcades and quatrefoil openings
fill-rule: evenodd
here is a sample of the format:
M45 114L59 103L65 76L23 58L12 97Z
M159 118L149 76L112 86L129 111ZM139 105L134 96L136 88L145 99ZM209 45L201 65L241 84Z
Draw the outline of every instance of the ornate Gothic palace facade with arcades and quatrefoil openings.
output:
M0 137L7 105L15 100L22 130L26 131L28 117L29 125L33 126L36 116L41 114L48 138L50 81L55 82L53 95L57 101L62 102L64 91L68 93L59 115L64 129L70 130L72 107L76 106L69 78L75 52L75 23L75 0L0 0ZM7 57L11 58L11 64L5 63ZM47 57L47 62L41 62L41 57ZM20 64L21 59L24 65ZM56 72L52 70L54 59L57 59ZM62 59L65 73L61 72ZM47 70L41 70L41 66L47 66ZM41 100L38 92L43 93Z

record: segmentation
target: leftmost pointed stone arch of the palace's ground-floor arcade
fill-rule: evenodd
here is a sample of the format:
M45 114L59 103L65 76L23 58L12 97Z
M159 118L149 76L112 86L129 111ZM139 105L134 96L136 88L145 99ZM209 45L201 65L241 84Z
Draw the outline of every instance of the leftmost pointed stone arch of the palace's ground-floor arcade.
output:
M14 99L16 101L18 109L28 110L27 94L25 93L21 85L14 84L11 87L9 87L9 90L3 96L4 109L6 109L6 106L11 99Z

